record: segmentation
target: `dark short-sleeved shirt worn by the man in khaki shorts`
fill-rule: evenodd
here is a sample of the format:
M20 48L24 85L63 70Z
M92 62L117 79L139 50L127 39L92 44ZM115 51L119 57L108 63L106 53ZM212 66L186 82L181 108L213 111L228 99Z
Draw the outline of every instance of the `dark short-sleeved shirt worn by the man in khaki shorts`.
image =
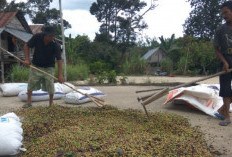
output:
M43 42L44 34L35 34L28 42L27 46L35 48L32 64L38 67L55 67L55 60L61 60L60 46L54 41L47 45Z

